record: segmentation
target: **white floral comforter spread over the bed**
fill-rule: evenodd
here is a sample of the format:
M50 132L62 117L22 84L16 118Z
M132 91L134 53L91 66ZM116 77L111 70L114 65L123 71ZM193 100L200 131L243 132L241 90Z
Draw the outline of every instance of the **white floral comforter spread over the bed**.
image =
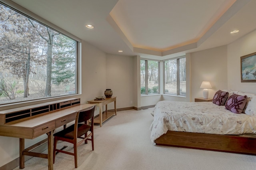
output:
M160 101L150 126L154 142L168 130L210 134L256 134L256 116L235 114L212 102Z

